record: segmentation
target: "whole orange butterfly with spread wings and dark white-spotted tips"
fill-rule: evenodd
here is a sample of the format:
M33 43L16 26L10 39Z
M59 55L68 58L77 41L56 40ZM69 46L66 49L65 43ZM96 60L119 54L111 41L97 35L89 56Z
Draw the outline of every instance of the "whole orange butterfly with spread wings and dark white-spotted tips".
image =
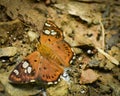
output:
M63 31L47 20L40 33L37 50L25 57L11 72L9 80L24 84L35 81L56 82L69 67L73 52L64 41Z

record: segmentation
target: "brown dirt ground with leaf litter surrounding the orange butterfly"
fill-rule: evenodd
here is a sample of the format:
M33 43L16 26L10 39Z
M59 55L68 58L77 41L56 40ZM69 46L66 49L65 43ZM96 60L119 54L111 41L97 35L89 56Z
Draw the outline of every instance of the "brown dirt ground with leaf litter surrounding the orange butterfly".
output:
M119 9L119 0L0 0L0 96L120 96ZM47 19L75 54L66 76L53 85L11 84Z

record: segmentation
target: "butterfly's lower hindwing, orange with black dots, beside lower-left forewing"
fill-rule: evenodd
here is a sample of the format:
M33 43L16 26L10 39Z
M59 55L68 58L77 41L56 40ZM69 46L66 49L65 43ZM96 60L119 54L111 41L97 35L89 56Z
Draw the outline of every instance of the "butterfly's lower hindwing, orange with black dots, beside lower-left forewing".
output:
M44 82L54 82L63 73L63 67L57 65L52 59L42 58L40 62L39 76Z

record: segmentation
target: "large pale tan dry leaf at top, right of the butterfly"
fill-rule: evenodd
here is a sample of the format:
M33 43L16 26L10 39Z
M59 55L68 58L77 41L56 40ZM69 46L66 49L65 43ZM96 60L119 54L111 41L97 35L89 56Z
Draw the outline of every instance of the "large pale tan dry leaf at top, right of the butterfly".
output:
M101 20L101 13L99 12L97 4L68 2L64 4L55 4L55 7L67 11L71 15L79 16L88 23L98 23L99 20Z

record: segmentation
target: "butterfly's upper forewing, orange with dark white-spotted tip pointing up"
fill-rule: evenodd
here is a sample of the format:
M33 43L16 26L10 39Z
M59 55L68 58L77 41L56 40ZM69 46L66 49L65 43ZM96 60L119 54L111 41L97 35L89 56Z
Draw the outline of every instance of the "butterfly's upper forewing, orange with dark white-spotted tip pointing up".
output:
M41 44L50 44L63 39L63 33L53 22L46 21L40 35Z

